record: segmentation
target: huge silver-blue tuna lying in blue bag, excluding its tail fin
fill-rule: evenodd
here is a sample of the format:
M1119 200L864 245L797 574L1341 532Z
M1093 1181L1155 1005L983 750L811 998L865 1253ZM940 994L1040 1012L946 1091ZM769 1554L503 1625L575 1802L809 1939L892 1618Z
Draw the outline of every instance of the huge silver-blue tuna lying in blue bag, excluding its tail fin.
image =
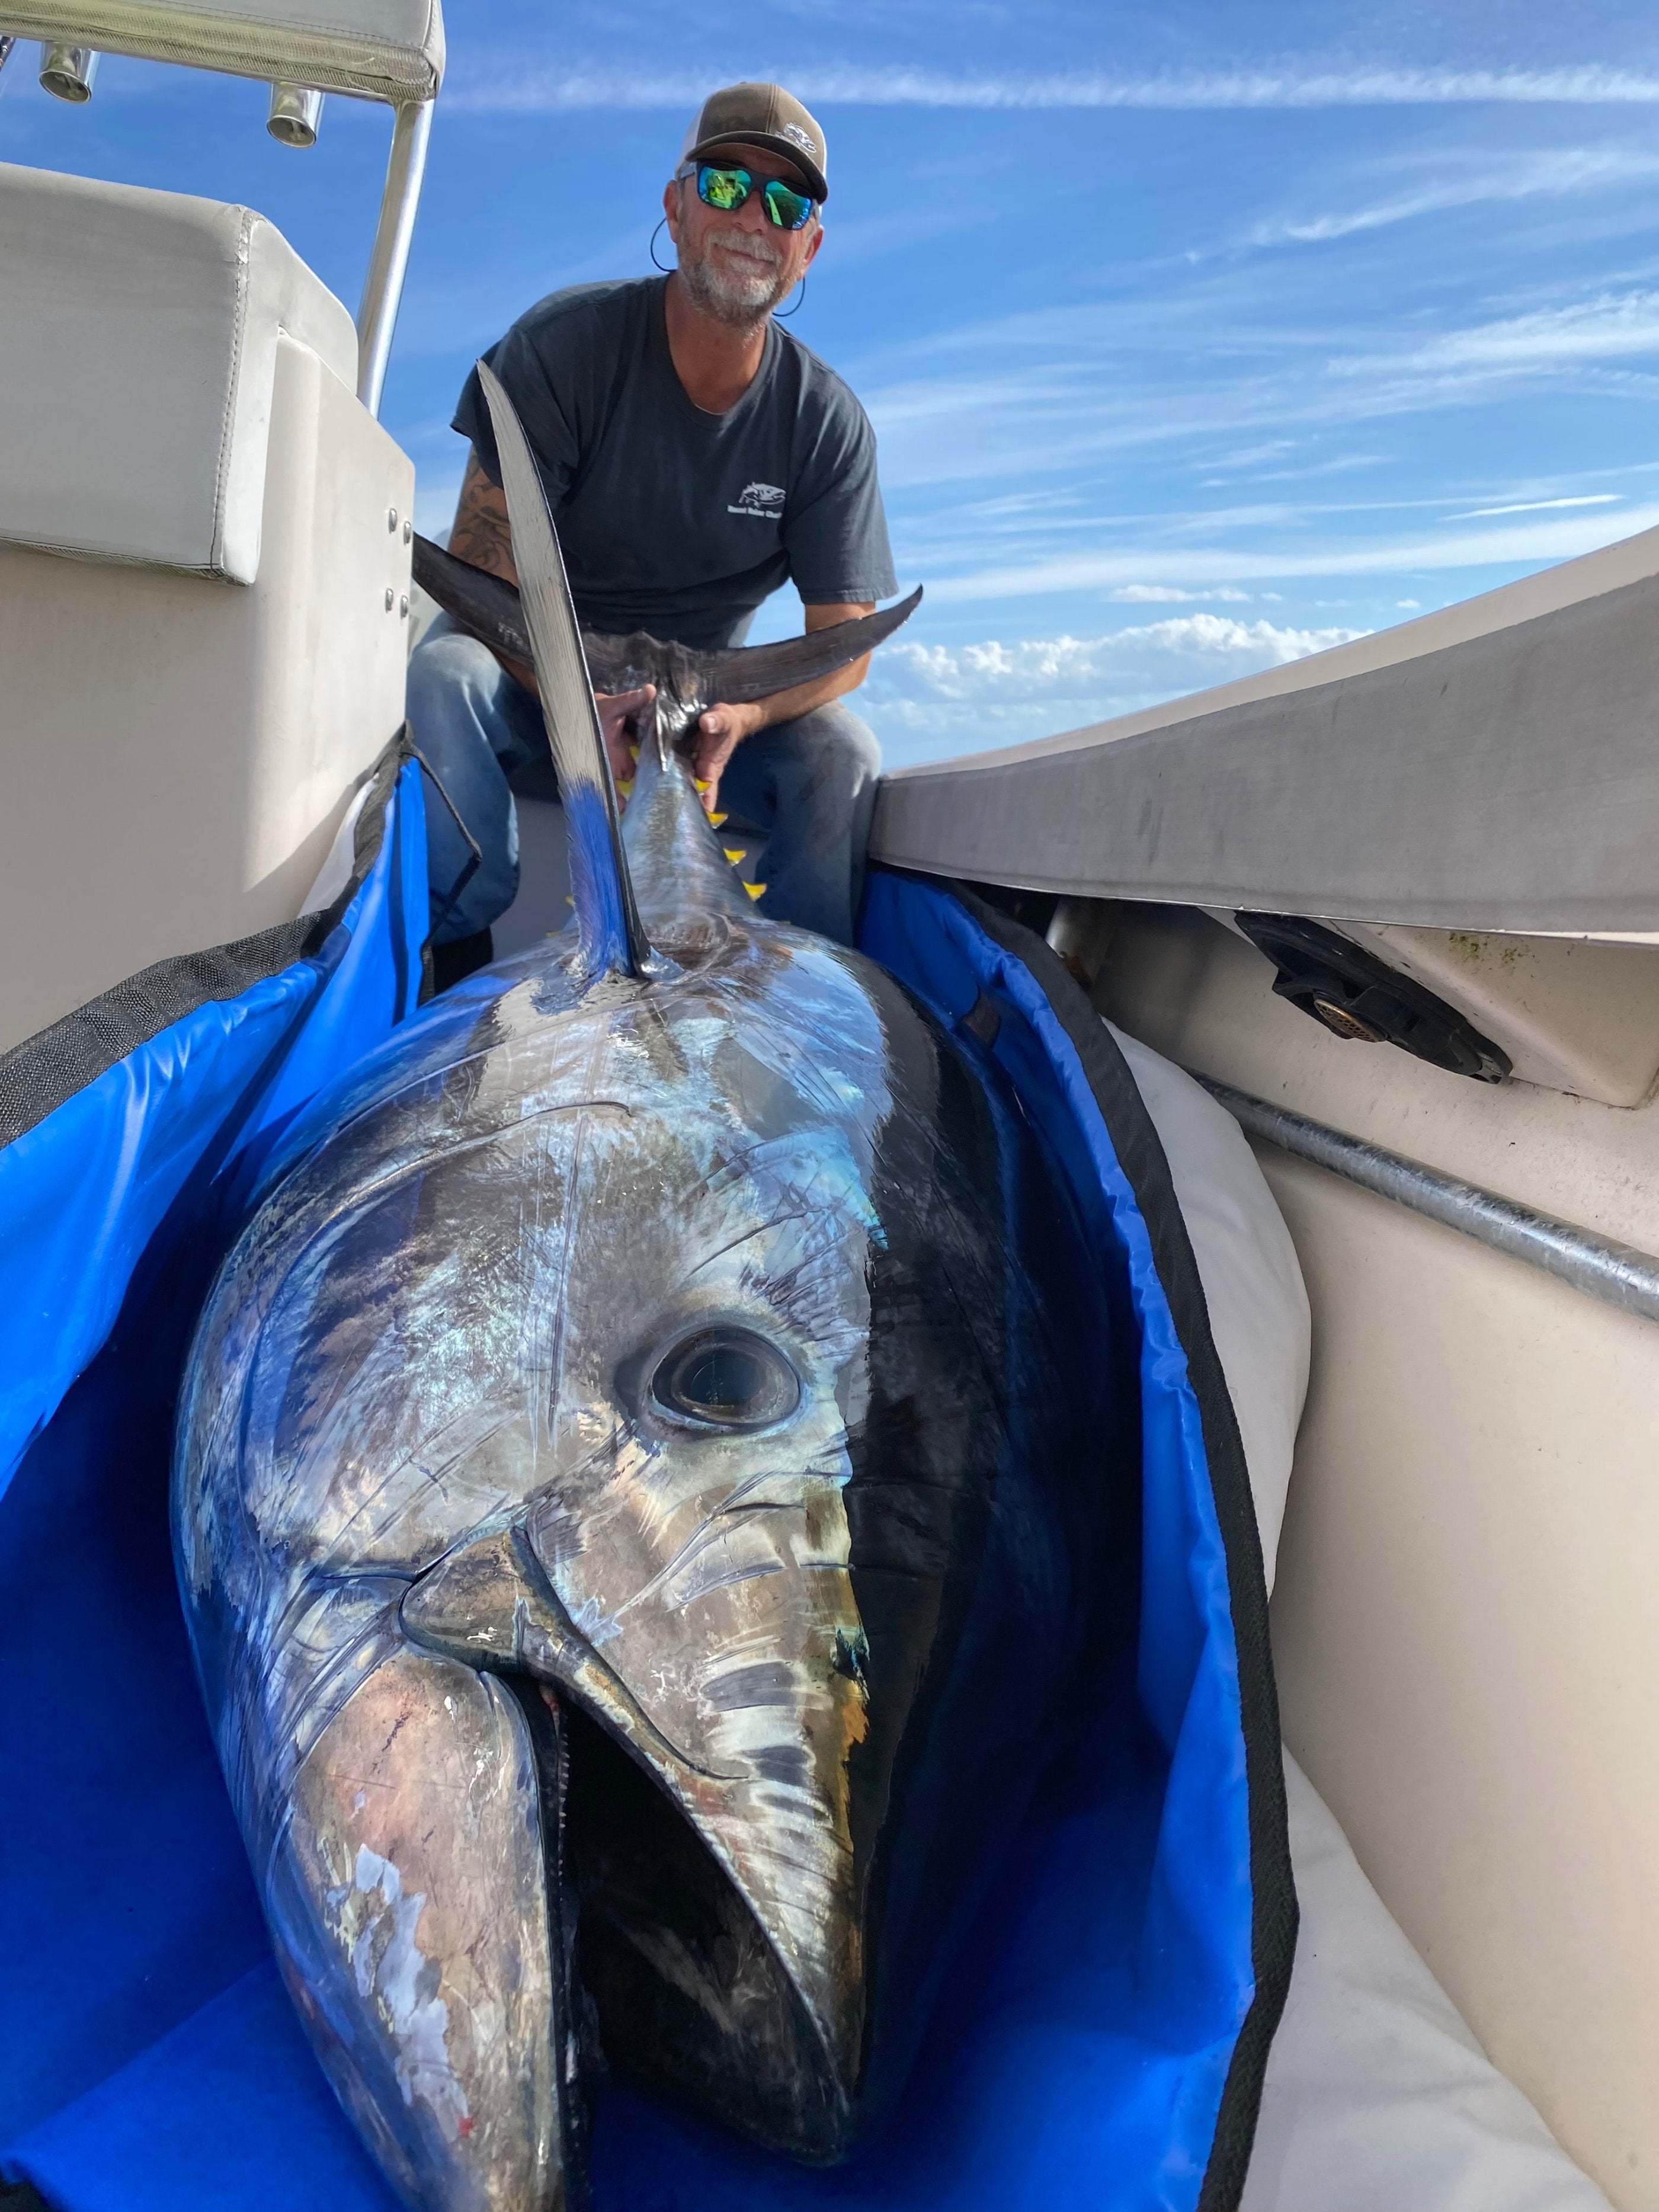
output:
M655 739L624 849L487 392L575 925L292 1137L197 1332L175 1544L341 2101L407 2203L551 2212L597 2051L803 2159L891 2104L1128 1626L1124 1462L975 1035L757 920Z

